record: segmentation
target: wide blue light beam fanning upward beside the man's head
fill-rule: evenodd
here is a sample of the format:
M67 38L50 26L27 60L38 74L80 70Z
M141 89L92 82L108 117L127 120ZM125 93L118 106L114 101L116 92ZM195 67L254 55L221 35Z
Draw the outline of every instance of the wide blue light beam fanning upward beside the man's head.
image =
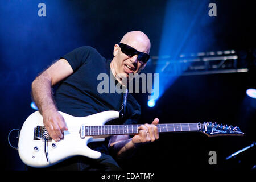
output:
M156 64L155 69L155 73L159 73L158 98L192 64L191 61L179 62L184 61L184 54L205 52L209 48L210 44L205 40L212 40L210 35L213 30L205 31L205 27L213 19L204 16L205 7L208 5L208 1L195 1L187 6L184 6L183 1L167 1L158 53L161 64ZM208 31L211 31L210 34Z

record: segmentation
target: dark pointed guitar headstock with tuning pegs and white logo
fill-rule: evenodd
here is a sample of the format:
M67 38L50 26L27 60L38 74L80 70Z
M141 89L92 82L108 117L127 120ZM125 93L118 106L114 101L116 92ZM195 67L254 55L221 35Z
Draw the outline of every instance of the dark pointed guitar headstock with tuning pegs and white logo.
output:
M233 127L228 125L219 125L217 123L207 122L201 123L201 131L208 137L216 136L242 136L244 133L239 127Z

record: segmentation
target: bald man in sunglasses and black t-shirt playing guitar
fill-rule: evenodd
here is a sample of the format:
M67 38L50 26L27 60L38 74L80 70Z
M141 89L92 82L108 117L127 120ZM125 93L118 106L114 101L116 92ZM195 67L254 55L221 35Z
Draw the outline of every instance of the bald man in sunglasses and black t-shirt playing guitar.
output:
M120 110L123 94L97 92L97 76L106 73L126 86L129 74L139 73L149 59L150 40L141 31L125 34L120 44L115 44L113 60L109 63L96 49L84 46L73 50L52 64L32 82L32 97L43 116L43 123L49 135L56 142L63 138L64 130L68 130L64 118L58 111L84 117L105 110ZM117 81L116 81L117 80ZM52 87L60 83L55 97ZM137 101L128 94L125 123L137 122L141 109ZM94 150L102 152L100 159L76 157L67 162L56 164L52 169L120 169L110 154L117 158L125 158L142 143L154 142L159 138L156 118L151 124L139 126L139 134L115 135L104 143L93 142ZM96 143L96 144L94 144Z

